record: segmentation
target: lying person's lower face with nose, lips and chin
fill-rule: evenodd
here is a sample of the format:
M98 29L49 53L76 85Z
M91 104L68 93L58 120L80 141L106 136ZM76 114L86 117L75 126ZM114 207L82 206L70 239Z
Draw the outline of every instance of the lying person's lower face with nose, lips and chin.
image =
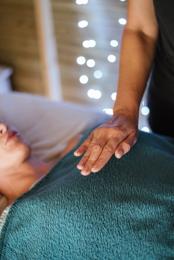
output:
M17 169L29 156L29 143L14 126L0 120L0 171Z

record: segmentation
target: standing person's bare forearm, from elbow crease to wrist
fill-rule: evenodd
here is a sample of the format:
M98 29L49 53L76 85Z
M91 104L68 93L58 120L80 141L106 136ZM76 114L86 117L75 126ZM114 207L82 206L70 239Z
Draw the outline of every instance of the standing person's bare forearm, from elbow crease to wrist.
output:
M120 71L114 113L119 109L138 114L154 59L156 39L127 29L123 32Z

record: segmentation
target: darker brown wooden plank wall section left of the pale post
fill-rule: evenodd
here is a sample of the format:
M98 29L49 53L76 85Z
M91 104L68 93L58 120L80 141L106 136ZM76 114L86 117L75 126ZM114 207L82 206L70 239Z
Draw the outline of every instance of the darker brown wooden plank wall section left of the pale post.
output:
M33 0L0 0L0 64L14 90L45 96Z

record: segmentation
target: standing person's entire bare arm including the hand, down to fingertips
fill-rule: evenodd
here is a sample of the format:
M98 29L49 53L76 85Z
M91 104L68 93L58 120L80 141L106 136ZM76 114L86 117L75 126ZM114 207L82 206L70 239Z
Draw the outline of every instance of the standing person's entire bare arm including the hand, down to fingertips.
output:
M154 59L157 38L158 24L153 0L129 0L114 114L94 129L74 152L79 156L86 151L77 165L82 175L99 171L114 153L120 158L135 144L139 134L139 106Z

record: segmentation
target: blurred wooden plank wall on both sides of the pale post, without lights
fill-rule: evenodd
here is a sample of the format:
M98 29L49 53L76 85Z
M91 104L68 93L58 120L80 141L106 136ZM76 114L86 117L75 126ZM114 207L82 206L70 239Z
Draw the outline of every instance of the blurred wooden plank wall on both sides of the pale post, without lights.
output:
M35 21L34 0L0 0L0 64L14 69L11 77L14 90L48 96L43 77L43 64ZM37 1L37 0L36 0ZM58 59L63 99L85 106L112 108L111 94L116 92L119 52L124 26L119 18L126 18L127 1L89 0L78 5L76 0L50 0L53 24L57 41ZM86 28L79 28L78 22L87 20ZM94 39L94 48L84 48L84 40ZM114 48L111 40L119 45ZM116 56L110 63L108 55ZM94 59L96 64L89 68L79 65L78 56ZM101 70L101 79L94 77L94 71ZM87 75L88 83L79 82L81 75ZM89 89L100 90L99 100L88 97Z

